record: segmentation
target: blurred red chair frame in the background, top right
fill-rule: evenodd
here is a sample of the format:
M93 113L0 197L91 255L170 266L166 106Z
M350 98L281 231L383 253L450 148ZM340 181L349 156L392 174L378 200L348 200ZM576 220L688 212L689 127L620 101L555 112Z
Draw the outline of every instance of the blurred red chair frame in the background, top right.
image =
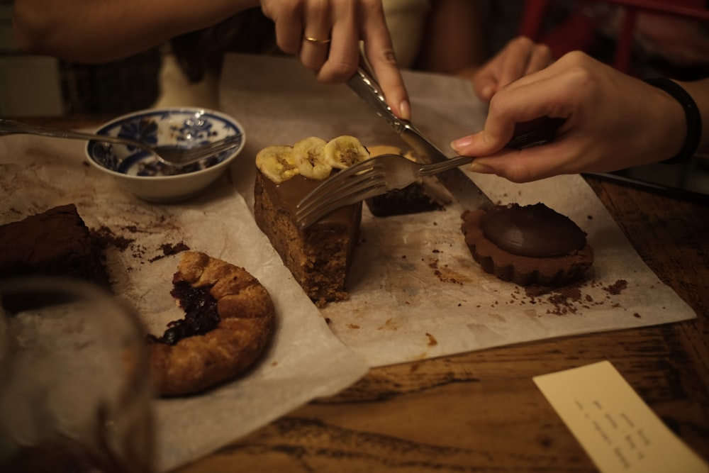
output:
M586 0L579 0L581 1ZM617 4L623 6L625 15L623 26L618 35L615 47L615 57L613 65L623 72L629 72L630 59L632 55L633 33L637 21L637 14L640 12L662 13L671 16L693 18L700 21L709 21L709 9L705 0L588 0L588 2L603 2L607 4ZM593 36L593 25L582 13L571 16L566 23L559 26L555 37L565 38L565 43L571 47L564 47L558 40L545 40L543 38L542 23L549 6L548 0L525 0L522 21L520 21L519 33L532 40L549 44L552 52L559 57L569 49L584 50Z

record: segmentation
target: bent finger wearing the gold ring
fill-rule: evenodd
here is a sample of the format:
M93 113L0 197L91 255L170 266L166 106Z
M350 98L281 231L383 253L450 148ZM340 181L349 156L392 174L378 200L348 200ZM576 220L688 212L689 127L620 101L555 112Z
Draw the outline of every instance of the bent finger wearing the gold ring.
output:
M328 59L333 39L330 13L330 4L327 0L311 1L304 12L303 38L298 59L313 72L320 71L325 60Z

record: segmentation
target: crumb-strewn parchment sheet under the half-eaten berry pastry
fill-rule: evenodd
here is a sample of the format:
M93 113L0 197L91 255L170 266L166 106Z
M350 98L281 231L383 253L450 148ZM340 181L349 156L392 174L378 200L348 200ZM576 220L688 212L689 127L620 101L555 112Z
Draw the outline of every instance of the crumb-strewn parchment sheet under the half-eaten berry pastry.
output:
M235 382L199 396L155 401L157 466L173 469L236 440L367 372L294 282L225 175L194 201L140 201L84 162L84 143L0 138L0 224L74 203L86 225L111 235L113 291L157 335L184 313L169 294L179 244L245 267L272 294L277 330L267 355ZM164 246L167 245L167 246ZM169 253L169 251L168 251Z

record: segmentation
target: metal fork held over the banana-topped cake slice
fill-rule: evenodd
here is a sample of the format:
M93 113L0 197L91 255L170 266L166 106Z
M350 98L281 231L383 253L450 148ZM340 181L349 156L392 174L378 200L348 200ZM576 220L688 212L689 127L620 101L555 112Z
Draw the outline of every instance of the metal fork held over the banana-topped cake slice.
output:
M472 160L471 156L457 156L422 165L401 155L372 157L337 172L313 189L298 203L296 221L301 228L307 228L337 208L402 189L420 177L466 165Z

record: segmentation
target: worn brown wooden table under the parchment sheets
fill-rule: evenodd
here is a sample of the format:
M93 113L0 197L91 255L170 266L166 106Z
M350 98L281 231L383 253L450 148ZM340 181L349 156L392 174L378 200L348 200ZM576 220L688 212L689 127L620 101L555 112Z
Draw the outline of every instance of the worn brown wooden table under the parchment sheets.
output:
M375 368L177 472L596 472L532 377L602 360L709 462L709 206L586 179L698 318Z

